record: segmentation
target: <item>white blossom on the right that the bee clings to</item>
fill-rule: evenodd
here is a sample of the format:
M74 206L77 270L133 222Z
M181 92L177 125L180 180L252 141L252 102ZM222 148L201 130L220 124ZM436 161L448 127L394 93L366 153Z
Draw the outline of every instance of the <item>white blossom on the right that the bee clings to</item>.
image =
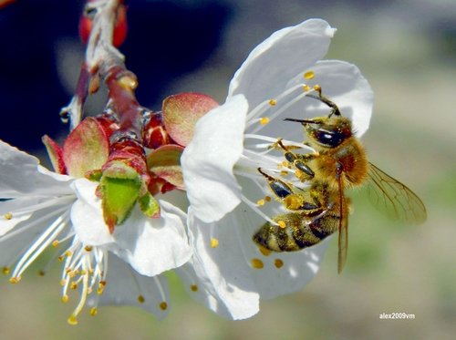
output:
M368 129L373 93L357 67L326 55L336 29L320 19L275 32L256 46L231 81L225 103L196 124L181 164L191 202L192 265L210 295L212 310L233 319L256 314L260 298L302 289L316 274L327 242L299 252L266 252L254 233L278 213L264 176L280 176L284 153L277 139L299 153L303 129L284 118L325 116L329 108L307 94L315 86L352 119L357 136ZM275 222L274 222L275 223Z

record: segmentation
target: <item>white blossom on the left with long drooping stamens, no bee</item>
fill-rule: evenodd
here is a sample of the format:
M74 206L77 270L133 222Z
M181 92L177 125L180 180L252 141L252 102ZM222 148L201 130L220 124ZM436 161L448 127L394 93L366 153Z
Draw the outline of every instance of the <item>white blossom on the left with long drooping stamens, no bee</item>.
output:
M86 303L90 314L97 313L98 304L137 305L159 318L167 314L168 292L160 274L192 255L181 210L161 200L161 217L150 219L135 207L109 233L97 183L46 170L35 157L2 141L0 170L0 198L5 199L0 201L0 265L11 283L54 247L63 263L62 301L71 290L80 291L70 324L78 322Z

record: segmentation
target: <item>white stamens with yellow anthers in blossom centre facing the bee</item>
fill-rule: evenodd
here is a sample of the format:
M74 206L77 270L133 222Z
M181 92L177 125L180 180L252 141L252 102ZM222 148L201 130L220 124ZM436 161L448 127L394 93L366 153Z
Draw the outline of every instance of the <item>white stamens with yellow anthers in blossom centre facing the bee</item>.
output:
M312 79L315 77L313 71L307 71L304 78ZM250 112L247 113L246 131L244 133L244 151L240 160L234 166L234 173L238 176L247 178L254 182L255 186L260 189L262 194L259 197L247 197L243 195L243 201L264 221L274 225L279 225L280 222L273 221L260 208L264 207L271 200L271 196L276 197L280 188L293 186L305 187L306 184L302 180L302 171L296 169L285 158L285 149L296 149L299 153L315 152L315 149L310 148L303 142L295 140L283 139L283 136L274 135L276 132L272 129L265 129L266 126L271 126L271 123L276 118L283 117L290 108L299 105L307 95L320 91L321 88L316 85L309 87L304 83L297 84L275 98L269 98L262 101ZM271 192L271 180L276 179L275 187L277 191ZM291 190L290 190L291 191Z

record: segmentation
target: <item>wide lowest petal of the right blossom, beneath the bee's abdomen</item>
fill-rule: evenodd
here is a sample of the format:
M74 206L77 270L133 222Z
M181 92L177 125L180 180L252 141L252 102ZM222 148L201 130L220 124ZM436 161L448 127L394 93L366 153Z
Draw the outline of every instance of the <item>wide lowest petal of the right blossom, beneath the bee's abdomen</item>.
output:
M269 299L301 290L316 275L326 251L324 241L299 252L265 256L252 240L263 223L244 204L216 223L189 220L194 269L223 304L222 311L228 310L234 319L255 314L258 297ZM219 242L216 248L211 247L212 238ZM263 263L260 269L253 265L258 261Z

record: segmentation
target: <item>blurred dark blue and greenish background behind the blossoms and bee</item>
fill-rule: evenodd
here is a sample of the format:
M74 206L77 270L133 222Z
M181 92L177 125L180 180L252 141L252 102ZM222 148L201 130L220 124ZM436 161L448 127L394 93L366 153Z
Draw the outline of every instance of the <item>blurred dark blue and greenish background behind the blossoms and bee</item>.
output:
M299 294L263 302L230 322L192 302L171 274L164 321L130 307L105 307L67 325L59 265L0 283L0 338L10 339L453 339L456 336L456 3L405 1L130 1L121 46L140 80L140 103L161 108L181 91L223 102L233 73L275 30L306 18L338 31L328 58L355 63L376 104L363 137L370 160L425 201L422 226L389 222L356 192L347 268L338 275L333 240L316 279ZM46 162L40 138L61 139L58 117L76 85L84 46L80 1L18 0L0 10L0 138ZM88 113L102 108L103 94ZM36 265L36 268L39 264ZM415 314L380 320L382 313Z

